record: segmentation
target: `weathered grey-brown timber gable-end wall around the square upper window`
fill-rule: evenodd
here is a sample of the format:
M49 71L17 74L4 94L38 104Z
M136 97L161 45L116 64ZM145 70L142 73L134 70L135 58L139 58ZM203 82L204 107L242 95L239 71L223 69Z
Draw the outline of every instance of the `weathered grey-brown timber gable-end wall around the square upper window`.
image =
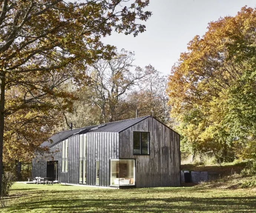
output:
M150 155L133 155L133 132L150 132ZM180 186L180 136L152 117L119 133L120 159L136 159L136 187Z

